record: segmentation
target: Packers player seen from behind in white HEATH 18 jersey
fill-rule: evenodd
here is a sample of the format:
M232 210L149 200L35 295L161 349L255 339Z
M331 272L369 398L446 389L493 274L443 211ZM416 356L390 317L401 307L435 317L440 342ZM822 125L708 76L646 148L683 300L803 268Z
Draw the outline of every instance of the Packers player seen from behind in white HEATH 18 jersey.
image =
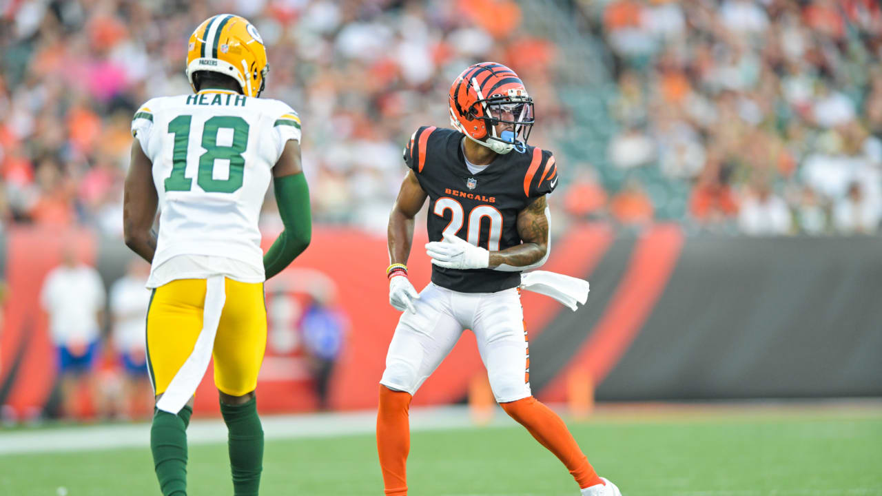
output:
M281 101L258 98L268 69L263 41L246 19L206 19L187 53L195 94L147 101L131 123L123 223L125 244L151 263L150 444L166 496L187 493L185 430L212 357L235 495L258 494L263 282L306 249L311 232L300 117ZM263 255L258 215L271 179L285 229Z

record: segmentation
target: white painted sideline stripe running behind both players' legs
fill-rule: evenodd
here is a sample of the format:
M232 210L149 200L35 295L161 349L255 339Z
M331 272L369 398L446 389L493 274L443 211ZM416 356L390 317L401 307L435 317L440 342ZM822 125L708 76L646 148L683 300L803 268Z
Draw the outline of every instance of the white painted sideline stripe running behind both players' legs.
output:
M500 410L493 416L490 426L516 425L501 413ZM377 424L377 411L265 416L260 420L267 440L321 438L372 433ZM473 427L475 422L467 407L447 406L411 409L410 425L414 431L432 431ZM187 440L190 444L226 442L227 426L220 418L194 420L187 428ZM0 455L94 451L149 444L149 423L0 432Z

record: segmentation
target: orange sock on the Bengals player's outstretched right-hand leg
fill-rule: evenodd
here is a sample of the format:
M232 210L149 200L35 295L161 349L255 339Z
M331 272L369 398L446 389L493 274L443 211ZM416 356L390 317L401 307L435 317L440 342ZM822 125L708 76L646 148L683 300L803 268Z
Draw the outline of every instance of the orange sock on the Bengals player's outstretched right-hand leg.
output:
M564 462L580 488L603 484L601 477L597 477L597 473L594 472L594 467L588 463L587 456L579 449L576 440L572 439L572 434L566 428L564 421L549 407L537 402L533 396L499 405L520 425L527 427L527 431L533 434L542 446Z

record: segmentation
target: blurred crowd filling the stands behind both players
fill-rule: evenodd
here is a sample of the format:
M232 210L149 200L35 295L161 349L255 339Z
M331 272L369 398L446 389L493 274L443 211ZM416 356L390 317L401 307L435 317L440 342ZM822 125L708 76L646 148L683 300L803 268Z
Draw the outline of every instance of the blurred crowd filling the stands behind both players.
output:
M669 220L647 192L653 184L636 173L654 169L684 185L686 207L673 218L694 229L878 231L875 0L544 4L569 9L584 35L601 41L617 87L605 160L558 158L562 188L552 205L569 218ZM318 222L385 230L405 171L402 146L419 125L447 125L447 89L468 64L495 60L519 72L536 101L531 144L555 149L555 130L576 111L555 86L572 61L521 27L525 13L513 0L4 5L0 232L11 223L78 222L120 235L131 115L153 96L191 92L186 39L221 11L258 27L271 66L265 95L303 118ZM603 167L627 179L610 186ZM272 201L264 218L268 229L279 227Z

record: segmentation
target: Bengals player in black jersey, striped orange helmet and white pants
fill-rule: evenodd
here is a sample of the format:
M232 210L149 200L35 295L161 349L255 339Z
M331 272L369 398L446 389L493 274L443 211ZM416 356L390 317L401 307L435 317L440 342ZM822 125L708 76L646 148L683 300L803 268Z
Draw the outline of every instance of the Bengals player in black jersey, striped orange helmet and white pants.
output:
M421 127L404 150L410 169L389 216L389 302L403 311L389 344L377 413L385 494L407 494L407 412L416 390L472 329L490 387L506 413L564 462L583 495L620 496L598 477L566 425L530 393L520 273L549 253L545 195L557 185L549 151L527 145L533 101L518 75L485 62L453 81L456 130ZM414 217L429 199L431 282L407 280Z

